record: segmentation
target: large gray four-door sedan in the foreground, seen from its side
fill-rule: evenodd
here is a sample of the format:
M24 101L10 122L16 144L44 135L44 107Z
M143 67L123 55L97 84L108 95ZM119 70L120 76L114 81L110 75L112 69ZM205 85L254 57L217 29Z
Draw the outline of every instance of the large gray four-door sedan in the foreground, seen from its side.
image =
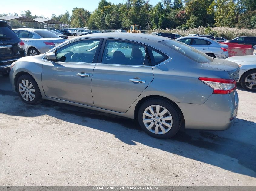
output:
M238 64L165 37L98 33L12 63L21 100L67 103L139 121L155 138L225 130L238 111Z

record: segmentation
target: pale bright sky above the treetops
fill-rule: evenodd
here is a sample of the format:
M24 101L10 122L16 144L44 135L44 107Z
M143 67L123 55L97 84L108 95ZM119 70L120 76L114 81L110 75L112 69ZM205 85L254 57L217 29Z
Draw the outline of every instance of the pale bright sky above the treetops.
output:
M149 0L149 3L151 5L156 5L159 1L161 0ZM32 15L43 15L44 17L51 18L52 14L58 16L64 14L66 10L72 14L72 9L74 7L82 7L92 12L98 7L99 2L100 0L0 0L0 14L16 12L20 15L22 10L30 10ZM119 4L125 2L125 0L107 0L107 2Z

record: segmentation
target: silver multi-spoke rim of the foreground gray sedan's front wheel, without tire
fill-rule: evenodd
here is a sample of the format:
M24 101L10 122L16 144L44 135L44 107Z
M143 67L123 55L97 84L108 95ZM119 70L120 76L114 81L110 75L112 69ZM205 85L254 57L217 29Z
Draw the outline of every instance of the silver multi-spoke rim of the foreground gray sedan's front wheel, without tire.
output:
M19 92L25 101L33 101L35 99L35 88L28 80L22 80L19 83Z

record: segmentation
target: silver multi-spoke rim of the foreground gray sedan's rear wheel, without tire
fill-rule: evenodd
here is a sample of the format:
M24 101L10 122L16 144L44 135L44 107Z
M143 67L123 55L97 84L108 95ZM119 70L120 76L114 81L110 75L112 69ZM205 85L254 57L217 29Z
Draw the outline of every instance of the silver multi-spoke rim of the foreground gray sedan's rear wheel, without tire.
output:
M163 106L151 105L147 107L142 117L145 127L152 133L165 134L172 127L171 113Z

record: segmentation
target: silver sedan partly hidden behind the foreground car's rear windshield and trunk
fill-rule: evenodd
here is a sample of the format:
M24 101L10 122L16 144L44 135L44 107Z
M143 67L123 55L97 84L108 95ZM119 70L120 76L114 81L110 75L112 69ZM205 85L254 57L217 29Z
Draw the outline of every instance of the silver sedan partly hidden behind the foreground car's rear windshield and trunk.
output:
M225 59L228 58L228 45L221 44L215 40L205 37L181 37L176 39L182 43L198 49L199 51L207 54L208 56Z

